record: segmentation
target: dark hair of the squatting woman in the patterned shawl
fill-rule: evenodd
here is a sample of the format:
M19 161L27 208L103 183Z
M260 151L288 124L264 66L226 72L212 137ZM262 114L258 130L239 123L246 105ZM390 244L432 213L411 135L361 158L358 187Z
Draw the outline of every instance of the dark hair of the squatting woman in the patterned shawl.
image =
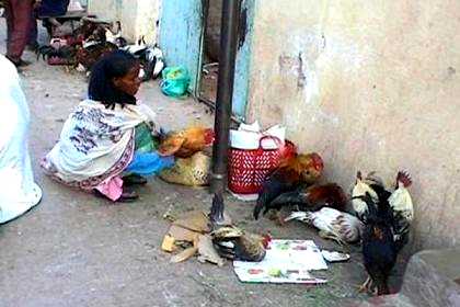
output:
M88 95L91 100L99 101L105 107L115 107L116 103L136 104L136 98L118 90L114 78L126 76L137 64L137 59L127 52L115 50L100 59L91 71Z

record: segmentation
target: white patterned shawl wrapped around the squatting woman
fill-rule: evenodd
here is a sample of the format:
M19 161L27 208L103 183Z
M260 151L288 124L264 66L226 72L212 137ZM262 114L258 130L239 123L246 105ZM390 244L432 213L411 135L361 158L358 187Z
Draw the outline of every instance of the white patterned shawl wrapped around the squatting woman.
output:
M135 127L153 123L154 113L143 104L106 109L82 101L64 124L59 141L42 166L55 179L90 190L119 174L134 154Z

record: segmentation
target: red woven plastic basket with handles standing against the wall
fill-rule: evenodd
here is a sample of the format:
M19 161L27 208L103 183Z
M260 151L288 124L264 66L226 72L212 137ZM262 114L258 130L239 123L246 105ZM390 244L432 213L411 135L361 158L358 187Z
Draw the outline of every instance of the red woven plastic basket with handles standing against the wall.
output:
M263 148L264 139L273 139L278 147L280 140L265 136L260 140L258 149L231 148L229 152L229 189L238 194L255 194L262 189L267 175L279 166L281 158L296 154L296 146L285 141L283 150Z

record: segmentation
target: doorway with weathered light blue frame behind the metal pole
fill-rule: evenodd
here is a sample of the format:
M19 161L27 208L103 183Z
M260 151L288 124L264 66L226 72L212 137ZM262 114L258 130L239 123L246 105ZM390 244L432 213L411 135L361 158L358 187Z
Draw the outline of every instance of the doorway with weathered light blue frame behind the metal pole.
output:
M163 0L161 8L160 46L166 65L186 67L192 79L188 91L215 107L222 0ZM241 0L232 104L240 121L246 112L254 10L255 0Z

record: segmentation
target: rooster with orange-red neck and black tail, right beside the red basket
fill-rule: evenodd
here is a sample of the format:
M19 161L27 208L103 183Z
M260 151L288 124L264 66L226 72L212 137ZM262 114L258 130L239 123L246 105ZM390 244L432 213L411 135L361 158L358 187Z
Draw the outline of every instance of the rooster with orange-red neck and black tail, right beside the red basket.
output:
M283 161L279 167L265 180L258 194L253 216L258 218L261 212L280 208L272 202L286 192L295 191L300 184L317 182L324 169L323 160L315 154L296 155Z

